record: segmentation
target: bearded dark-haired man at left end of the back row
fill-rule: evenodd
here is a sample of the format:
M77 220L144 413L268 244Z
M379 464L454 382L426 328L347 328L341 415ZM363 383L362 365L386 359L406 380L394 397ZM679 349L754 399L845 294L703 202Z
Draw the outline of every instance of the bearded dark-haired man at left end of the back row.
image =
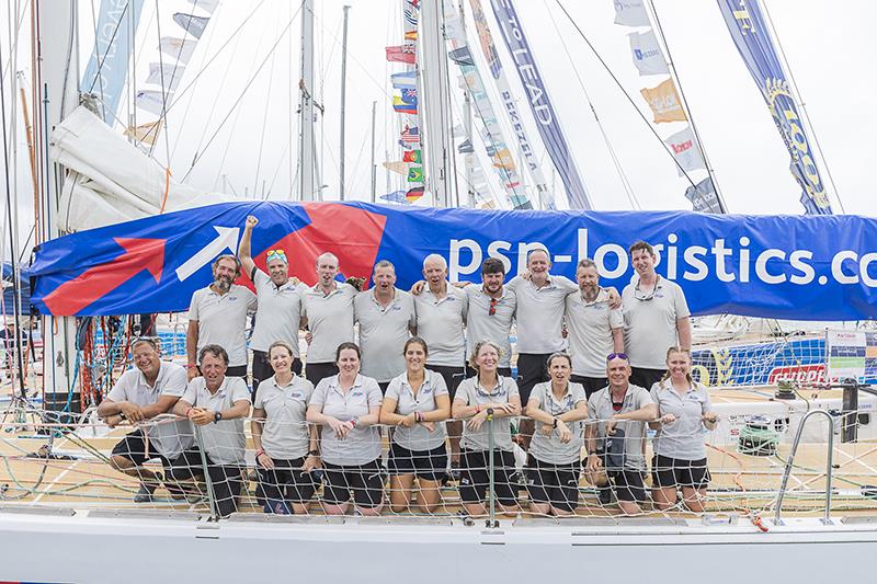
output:
M195 290L189 307L185 353L189 380L200 375L197 355L207 345L219 345L228 353L228 377L247 377L247 316L255 312L257 296L244 286L232 284L240 276L235 255L220 255L213 263L213 284Z

